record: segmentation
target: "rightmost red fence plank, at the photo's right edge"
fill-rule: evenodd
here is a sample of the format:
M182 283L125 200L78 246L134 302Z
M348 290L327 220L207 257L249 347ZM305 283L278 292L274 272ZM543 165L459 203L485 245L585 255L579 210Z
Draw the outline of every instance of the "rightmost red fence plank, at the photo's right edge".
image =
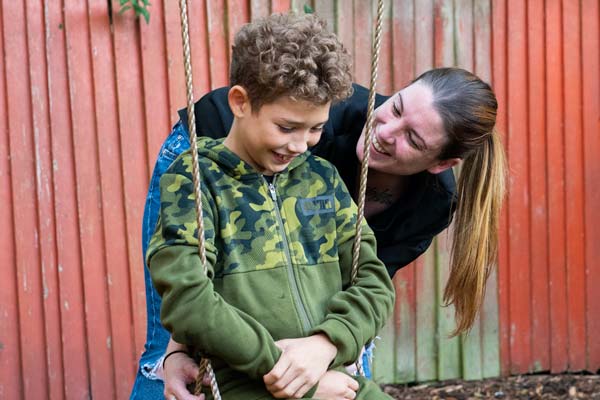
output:
M600 5L581 3L581 53L583 61L583 143L585 174L585 243L587 294L587 369L600 370Z

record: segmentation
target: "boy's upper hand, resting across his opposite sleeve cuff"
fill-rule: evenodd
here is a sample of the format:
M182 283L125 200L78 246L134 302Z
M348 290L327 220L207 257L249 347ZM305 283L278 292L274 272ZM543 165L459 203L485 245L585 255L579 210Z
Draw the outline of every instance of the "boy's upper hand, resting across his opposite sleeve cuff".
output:
M337 354L337 348L322 333L275 344L283 353L263 380L276 398L301 398L327 372Z

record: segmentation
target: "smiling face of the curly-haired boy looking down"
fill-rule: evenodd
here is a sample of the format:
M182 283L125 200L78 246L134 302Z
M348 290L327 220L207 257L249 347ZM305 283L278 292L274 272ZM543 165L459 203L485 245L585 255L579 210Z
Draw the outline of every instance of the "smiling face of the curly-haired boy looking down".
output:
M317 144L330 107L284 96L253 113L240 86L230 89L229 104L235 118L225 146L263 175L283 171Z

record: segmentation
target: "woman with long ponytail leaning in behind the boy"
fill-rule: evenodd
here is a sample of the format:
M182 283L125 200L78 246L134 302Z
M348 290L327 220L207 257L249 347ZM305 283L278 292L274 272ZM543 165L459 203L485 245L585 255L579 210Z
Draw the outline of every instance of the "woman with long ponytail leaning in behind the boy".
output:
M312 152L331 161L351 193L358 188L363 157L368 91L355 85L353 96L331 107L321 141ZM227 88L196 105L198 135L228 132L232 115ZM378 242L378 256L390 276L412 262L445 229L456 210L450 276L444 301L454 304L459 334L473 324L485 282L497 253L497 228L504 194L505 159L494 130L497 101L488 84L468 71L427 71L389 98L376 98L374 137L369 160L365 217ZM149 188L143 247L156 223L158 178L187 143L187 115L163 145ZM458 185L451 168L462 164ZM160 299L146 270L148 342L132 398L160 398L162 355L168 333L160 326ZM185 381L195 366L169 343L166 395L191 397ZM158 375L157 375L158 374ZM138 397L139 396L139 397ZM169 398L169 397L167 397Z

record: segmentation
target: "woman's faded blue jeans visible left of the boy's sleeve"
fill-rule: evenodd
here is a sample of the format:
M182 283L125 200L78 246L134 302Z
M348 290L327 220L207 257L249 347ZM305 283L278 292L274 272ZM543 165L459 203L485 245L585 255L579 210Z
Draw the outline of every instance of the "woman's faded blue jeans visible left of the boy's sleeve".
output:
M160 208L160 177L169 168L171 163L184 151L190 147L187 130L181 122L178 122L173 127L173 130L163 143L154 172L148 187L148 197L144 207L144 219L142 223L142 250L144 256L148 249L150 238L154 234L156 222L158 220L158 212ZM137 399L164 399L163 396L163 381L156 376L157 362L167 348L170 334L160 323L160 296L156 292L150 273L144 262L144 284L146 286L146 345L144 353L140 359L140 367L138 369L133 390L131 392L131 400Z

